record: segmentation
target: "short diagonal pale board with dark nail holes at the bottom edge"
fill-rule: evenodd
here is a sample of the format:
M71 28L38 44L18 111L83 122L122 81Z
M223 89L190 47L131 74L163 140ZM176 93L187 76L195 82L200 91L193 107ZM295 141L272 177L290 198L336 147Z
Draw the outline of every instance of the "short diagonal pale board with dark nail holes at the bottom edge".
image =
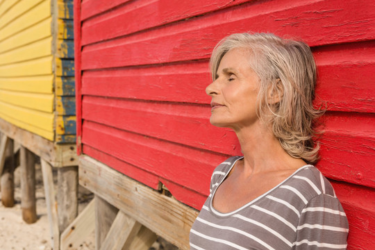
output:
M60 237L60 249L77 249L95 229L95 201L88 203L83 211L67 226Z

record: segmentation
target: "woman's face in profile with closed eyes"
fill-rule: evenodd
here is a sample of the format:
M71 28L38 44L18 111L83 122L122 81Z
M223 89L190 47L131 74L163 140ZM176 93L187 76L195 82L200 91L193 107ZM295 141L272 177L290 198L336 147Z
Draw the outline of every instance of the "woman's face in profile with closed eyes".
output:
M211 124L238 131L258 121L256 99L260 84L249 66L250 56L244 49L231 49L222 58L217 79L206 88L212 97Z

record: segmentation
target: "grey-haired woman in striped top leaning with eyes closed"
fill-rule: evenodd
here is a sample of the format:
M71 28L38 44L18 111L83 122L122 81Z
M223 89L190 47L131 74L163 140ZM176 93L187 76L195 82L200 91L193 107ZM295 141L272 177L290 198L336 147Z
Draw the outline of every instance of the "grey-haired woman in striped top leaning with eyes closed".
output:
M224 38L210 60L210 123L244 156L220 164L190 249L346 249L348 222L313 164L316 66L308 45L272 34Z

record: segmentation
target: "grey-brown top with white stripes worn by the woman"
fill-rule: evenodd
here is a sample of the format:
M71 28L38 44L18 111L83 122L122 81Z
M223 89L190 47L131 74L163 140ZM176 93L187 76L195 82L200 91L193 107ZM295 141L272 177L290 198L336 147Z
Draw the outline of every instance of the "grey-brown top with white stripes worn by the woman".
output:
M213 196L240 156L213 172L210 196L190 231L190 249L347 249L347 217L328 180L313 165L231 213Z

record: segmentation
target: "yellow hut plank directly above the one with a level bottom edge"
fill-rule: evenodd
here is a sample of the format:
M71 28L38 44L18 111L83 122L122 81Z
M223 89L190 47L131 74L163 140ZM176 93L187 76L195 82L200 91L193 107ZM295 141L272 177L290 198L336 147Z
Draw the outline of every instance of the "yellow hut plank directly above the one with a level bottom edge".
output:
M27 44L18 49L0 53L0 65L22 62L35 58L41 58L52 54L52 37L45 38L38 42Z

